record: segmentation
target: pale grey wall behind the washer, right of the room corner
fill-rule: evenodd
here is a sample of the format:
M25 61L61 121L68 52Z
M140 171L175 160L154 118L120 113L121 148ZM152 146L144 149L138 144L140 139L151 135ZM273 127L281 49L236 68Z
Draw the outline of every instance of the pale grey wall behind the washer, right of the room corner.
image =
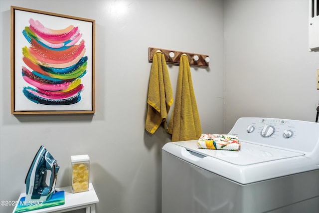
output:
M240 117L315 121L308 0L225 2L225 131Z

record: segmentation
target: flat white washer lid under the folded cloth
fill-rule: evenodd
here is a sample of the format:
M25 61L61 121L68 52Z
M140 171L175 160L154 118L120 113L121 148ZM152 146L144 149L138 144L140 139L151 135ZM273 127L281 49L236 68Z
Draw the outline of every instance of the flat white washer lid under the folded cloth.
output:
M243 141L241 141L240 151L198 149L196 140L173 143L178 146L184 147L187 151L195 152L199 155L202 155L202 157L210 156L240 166L304 156L303 153L256 145Z

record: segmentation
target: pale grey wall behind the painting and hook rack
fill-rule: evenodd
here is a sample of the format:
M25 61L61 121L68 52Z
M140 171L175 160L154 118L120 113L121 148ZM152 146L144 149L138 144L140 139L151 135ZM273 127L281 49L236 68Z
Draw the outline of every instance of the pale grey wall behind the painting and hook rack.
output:
M10 5L96 20L94 115L10 114ZM223 132L223 7L222 0L0 0L0 200L25 191L44 145L61 167L57 187L69 185L71 155L90 156L97 213L160 213L161 147L170 139L144 129L148 47L210 56L209 69L191 68L193 86L203 132ZM178 66L168 68L175 91Z

